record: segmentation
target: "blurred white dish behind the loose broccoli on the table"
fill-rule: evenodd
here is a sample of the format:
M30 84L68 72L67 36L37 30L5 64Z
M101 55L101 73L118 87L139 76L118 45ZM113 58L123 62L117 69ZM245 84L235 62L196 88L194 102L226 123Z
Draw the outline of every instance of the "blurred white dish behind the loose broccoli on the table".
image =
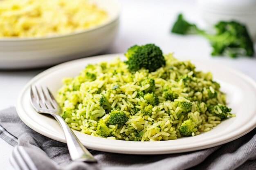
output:
M247 26L256 40L256 0L198 0L202 18L209 25L236 20Z

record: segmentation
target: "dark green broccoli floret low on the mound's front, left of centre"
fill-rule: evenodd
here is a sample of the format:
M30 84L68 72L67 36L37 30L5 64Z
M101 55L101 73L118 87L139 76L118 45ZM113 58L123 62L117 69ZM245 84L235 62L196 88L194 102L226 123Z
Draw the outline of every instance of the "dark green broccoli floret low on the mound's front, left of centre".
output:
M126 114L119 110L111 110L109 115L110 118L108 119L108 123L111 125L117 124L118 128L123 126L125 122L128 121L128 117L126 116Z

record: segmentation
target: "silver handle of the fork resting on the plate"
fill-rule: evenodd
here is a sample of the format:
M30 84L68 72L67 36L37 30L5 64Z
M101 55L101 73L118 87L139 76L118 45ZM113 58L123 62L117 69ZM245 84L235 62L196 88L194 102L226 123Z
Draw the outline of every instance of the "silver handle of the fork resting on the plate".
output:
M63 129L71 159L73 161L97 162L92 154L81 144L74 132L67 125L66 121L60 115L52 114L52 116L58 121Z

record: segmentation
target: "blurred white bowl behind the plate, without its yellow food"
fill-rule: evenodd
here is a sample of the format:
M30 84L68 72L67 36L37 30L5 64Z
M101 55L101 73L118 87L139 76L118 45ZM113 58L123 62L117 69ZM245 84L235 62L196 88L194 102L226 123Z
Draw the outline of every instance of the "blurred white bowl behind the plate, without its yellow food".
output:
M0 39L0 69L50 66L106 50L118 29L117 0L91 0L107 11L108 22L80 32L42 38Z

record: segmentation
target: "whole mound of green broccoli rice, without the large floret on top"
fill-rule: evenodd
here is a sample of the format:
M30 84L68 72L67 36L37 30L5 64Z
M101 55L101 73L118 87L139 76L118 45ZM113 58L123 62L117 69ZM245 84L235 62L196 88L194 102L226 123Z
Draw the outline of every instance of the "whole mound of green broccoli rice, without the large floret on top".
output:
M116 57L64 78L57 96L62 117L92 136L160 141L199 135L234 116L210 72L172 53L163 56L165 65L152 72L130 71Z

